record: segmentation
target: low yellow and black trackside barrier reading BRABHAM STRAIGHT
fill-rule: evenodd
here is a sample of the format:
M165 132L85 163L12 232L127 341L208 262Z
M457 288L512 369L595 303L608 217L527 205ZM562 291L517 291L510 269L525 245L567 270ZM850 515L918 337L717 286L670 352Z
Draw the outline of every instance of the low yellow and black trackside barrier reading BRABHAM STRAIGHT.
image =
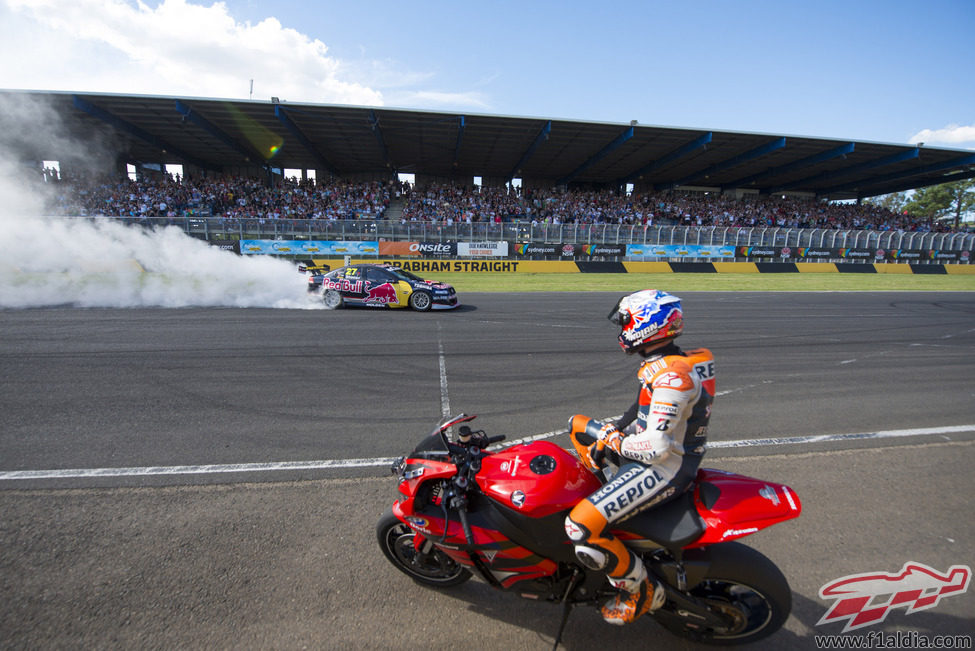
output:
M316 264L338 269L342 258L313 258ZM539 273L866 273L866 274L968 274L971 264L856 263L856 262L588 262L571 260L472 260L472 259L376 259L354 258L353 264L381 263L417 274L539 274Z

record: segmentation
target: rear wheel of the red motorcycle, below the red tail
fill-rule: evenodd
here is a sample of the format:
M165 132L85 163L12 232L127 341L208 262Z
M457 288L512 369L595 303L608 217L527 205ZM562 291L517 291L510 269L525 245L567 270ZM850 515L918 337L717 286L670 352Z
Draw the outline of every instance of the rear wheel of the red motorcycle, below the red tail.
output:
M728 626L701 628L692 617L682 616L667 606L654 615L671 633L705 644L761 640L779 630L792 610L792 591L775 563L735 542L711 548L711 567L690 594L724 614Z

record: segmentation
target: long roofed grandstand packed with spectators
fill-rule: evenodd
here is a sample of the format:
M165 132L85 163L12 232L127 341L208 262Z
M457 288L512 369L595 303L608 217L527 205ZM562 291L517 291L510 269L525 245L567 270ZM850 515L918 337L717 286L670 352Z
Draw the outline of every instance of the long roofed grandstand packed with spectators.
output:
M51 212L207 239L975 249L975 236L862 203L975 177L968 150L276 99L0 102L20 107L20 161L60 162L44 177L62 186Z

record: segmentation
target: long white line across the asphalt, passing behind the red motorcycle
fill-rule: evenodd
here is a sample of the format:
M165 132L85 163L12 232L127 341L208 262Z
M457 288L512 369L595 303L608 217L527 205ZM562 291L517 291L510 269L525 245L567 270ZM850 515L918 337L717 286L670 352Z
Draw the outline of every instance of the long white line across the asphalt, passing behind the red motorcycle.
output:
M613 419L604 419L613 420ZM856 441L867 439L894 439L908 436L942 436L975 432L975 424L946 427L923 427L915 429L882 430L878 432L859 432L852 434L823 434L819 436L785 436L764 439L741 439L737 441L714 441L708 443L709 449L775 447L779 445L800 445L807 443L826 443L830 441ZM540 439L565 434L557 430L537 434L516 441L508 441L505 446L528 443ZM201 466L147 466L141 468L75 468L63 470L10 470L0 472L0 481L24 479L72 479L94 477L149 477L156 475L209 475L219 473L274 472L294 470L337 470L348 468L367 468L371 466L391 466L394 457L375 459L326 459L322 461L282 461L278 463L236 463Z

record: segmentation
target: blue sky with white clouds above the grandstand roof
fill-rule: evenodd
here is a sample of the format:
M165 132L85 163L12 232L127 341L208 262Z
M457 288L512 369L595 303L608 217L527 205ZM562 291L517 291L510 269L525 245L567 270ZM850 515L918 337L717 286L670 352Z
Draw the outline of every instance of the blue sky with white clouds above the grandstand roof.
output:
M973 43L975 0L0 0L0 88L975 149Z

